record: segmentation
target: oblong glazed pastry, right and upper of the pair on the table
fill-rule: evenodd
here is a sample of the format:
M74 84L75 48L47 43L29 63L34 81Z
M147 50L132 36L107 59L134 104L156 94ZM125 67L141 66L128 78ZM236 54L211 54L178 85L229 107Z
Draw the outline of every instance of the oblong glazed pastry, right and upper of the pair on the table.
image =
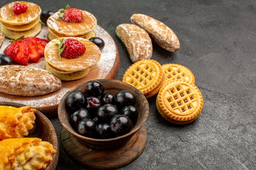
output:
M180 49L180 42L177 35L164 23L140 13L133 14L130 20L132 23L145 29L150 37L153 38L153 41L163 49L172 52Z

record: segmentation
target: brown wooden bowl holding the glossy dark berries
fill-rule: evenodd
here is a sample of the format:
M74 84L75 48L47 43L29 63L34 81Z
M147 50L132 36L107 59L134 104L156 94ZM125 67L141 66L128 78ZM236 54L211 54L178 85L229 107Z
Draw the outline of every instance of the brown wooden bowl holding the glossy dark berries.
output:
M65 98L72 92L72 91L81 91L85 97L88 97L88 94L85 93L85 83L72 88L68 91L58 106L58 117L61 121L63 127L70 132L76 140L85 146L86 148L92 150L115 150L121 146L124 146L131 137L144 125L147 117L148 117L148 101L146 97L135 87L126 84L124 82L114 80L114 79L97 79L97 81L101 82L105 87L104 93L112 93L115 95L119 91L127 90L130 91L136 97L136 104L135 107L139 112L139 117L137 119L136 124L133 126L132 130L127 133L126 135L115 137L111 139L93 139L89 137L84 137L79 135L70 125L70 113L67 113L66 106L65 106Z

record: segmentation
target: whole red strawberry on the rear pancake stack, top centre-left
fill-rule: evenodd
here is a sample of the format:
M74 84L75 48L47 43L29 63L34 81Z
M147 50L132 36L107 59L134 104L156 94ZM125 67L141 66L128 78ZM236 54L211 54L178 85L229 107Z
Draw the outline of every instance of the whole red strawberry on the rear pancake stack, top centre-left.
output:
M82 22L83 13L76 8L67 9L63 14L63 20L65 22Z

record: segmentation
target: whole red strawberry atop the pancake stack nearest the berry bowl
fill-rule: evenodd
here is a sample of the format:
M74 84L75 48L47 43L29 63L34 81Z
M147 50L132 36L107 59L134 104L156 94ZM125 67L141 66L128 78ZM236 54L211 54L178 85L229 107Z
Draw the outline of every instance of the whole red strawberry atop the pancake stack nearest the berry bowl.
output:
M85 46L76 39L68 38L63 42L65 49L61 53L61 56L66 59L72 59L82 55L86 48Z

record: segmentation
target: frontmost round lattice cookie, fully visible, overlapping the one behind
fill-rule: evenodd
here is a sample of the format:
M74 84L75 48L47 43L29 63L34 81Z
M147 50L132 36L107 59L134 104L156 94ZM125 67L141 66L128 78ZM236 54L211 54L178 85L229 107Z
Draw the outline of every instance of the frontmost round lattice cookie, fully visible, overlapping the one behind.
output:
M199 89L183 79L167 80L157 95L157 109L174 124L188 124L200 115L203 97Z

